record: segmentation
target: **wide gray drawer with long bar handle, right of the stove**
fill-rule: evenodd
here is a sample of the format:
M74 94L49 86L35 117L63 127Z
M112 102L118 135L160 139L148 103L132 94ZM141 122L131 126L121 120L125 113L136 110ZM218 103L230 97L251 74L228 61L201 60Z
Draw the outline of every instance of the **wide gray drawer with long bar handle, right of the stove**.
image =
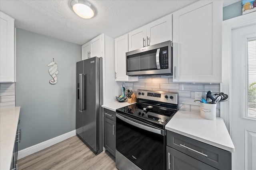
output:
M231 169L231 152L167 131L168 146L217 169Z

